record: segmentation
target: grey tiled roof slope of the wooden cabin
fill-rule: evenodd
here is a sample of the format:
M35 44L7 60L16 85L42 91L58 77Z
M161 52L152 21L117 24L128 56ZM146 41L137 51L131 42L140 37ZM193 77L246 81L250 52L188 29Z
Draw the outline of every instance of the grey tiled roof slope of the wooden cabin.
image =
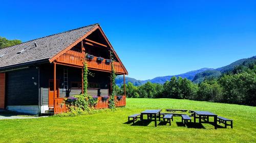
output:
M0 49L0 68L49 60L83 35L90 32L97 25L92 24ZM37 47L35 47L35 43Z

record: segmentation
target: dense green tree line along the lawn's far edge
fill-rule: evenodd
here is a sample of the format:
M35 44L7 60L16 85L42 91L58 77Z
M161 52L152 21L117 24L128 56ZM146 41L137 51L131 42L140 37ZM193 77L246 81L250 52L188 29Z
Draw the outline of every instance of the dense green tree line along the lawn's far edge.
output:
M136 87L128 82L125 89L129 98L175 98L256 106L256 64L240 65L218 79L205 79L201 83L173 76L164 84L148 81ZM123 85L116 87L116 93L123 94Z

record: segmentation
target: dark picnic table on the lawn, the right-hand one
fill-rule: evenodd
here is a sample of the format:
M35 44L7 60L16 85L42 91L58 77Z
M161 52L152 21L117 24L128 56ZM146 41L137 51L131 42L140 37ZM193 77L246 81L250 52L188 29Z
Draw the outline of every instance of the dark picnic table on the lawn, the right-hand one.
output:
M196 115L198 115L199 117L196 117ZM215 129L217 129L217 115L212 113L212 112L208 112L208 111L194 111L194 123L196 123L196 118L199 118L199 123L202 123L202 119L205 121L206 123L209 123L209 117L214 117L214 127Z

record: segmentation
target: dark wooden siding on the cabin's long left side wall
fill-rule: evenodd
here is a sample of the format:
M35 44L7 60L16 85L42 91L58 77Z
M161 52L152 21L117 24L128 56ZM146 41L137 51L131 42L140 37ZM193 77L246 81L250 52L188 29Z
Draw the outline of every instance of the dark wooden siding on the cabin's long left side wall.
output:
M7 105L38 105L38 90L35 67L6 73Z

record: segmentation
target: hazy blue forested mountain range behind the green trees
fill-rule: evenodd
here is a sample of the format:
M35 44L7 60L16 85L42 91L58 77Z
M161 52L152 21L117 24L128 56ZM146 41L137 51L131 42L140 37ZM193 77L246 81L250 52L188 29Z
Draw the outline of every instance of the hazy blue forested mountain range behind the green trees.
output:
M170 78L172 78L173 76L176 76L176 77L180 76L182 78L187 78L195 83L200 83L205 78L217 78L217 77L221 76L222 73L232 71L236 66L239 66L246 61L256 61L256 56L252 56L251 58L248 58L248 59L241 59L241 60L235 61L227 66L220 67L217 69L202 68L199 70L189 71L189 72L178 74L178 75L160 76L160 77L155 77L153 79L147 79L147 80L137 80L135 78L125 77L125 83L132 82L136 86L142 85L142 84L146 83L147 81L151 81L152 83L163 84L165 81L170 80ZM116 77L116 84L119 87L123 84L122 76Z

